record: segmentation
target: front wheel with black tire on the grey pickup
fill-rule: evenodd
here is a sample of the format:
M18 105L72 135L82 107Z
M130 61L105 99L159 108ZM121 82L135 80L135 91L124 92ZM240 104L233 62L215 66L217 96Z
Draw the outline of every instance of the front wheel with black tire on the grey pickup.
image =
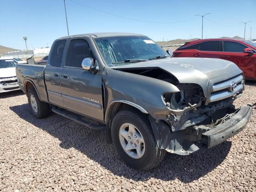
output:
M135 126L135 134L130 135L133 126ZM129 130L131 131L129 132ZM130 138L126 137L127 132ZM138 136L136 136L136 134ZM123 135L127 139L125 139ZM166 154L166 150L159 149L156 144L148 116L137 110L122 110L118 112L113 118L111 136L116 151L121 159L136 170L150 170L154 168L164 159ZM140 140L139 143L137 143L137 138ZM142 144L141 140L144 141L144 144ZM132 144L128 145L128 142ZM138 144L137 146L139 146L139 148L130 150L130 148L135 147L134 143ZM125 150L127 146L129 150ZM142 147L140 148L140 146Z

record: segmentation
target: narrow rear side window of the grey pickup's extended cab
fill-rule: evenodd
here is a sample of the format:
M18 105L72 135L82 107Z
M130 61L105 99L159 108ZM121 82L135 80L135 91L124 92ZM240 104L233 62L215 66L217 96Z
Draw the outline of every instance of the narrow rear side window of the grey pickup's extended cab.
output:
M50 64L52 66L60 67L65 43L66 43L66 40L61 40L61 41L57 41L54 44L54 47L51 53L51 60L50 60Z

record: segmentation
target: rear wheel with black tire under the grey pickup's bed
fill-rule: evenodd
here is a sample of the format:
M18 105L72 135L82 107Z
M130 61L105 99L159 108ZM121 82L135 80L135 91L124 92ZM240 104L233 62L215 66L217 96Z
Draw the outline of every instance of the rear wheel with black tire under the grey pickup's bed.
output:
M36 102L37 110L35 109L34 102ZM50 105L46 102L40 101L36 90L34 89L28 90L28 105L32 114L38 119L44 118L50 113Z

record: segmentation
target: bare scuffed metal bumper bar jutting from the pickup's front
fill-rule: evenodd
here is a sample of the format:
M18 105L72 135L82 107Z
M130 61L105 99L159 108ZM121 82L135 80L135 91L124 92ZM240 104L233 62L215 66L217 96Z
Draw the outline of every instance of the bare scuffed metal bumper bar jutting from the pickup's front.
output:
M243 105L232 118L204 132L202 134L202 143L211 148L238 134L245 128L251 114L252 106Z

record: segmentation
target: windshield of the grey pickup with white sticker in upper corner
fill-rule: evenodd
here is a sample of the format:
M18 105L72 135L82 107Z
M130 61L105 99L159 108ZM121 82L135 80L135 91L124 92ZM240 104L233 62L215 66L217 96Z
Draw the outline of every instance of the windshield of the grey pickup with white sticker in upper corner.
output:
M122 62L125 61L125 64L129 64L157 56L169 56L159 45L146 36L103 37L95 38L95 41L106 64L110 67L116 66L118 62L124 64Z

